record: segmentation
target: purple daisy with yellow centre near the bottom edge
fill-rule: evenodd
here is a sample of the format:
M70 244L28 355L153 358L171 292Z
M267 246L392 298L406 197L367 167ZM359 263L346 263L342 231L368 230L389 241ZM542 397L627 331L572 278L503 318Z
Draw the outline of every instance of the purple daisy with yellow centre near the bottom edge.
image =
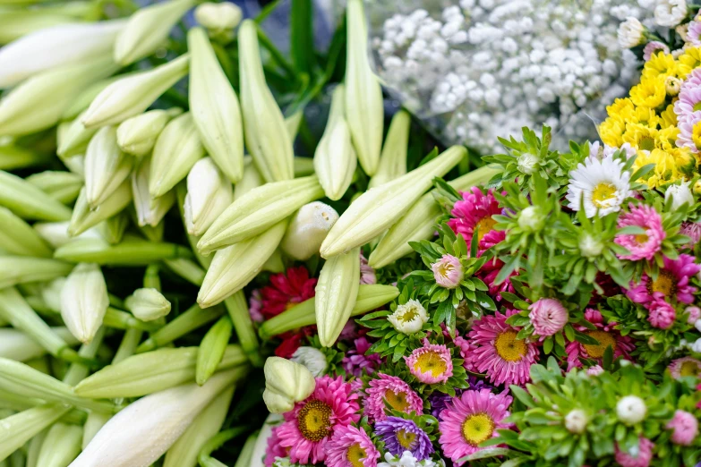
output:
M413 420L388 417L375 423L375 434L382 437L390 454L401 455L409 451L417 461L423 461L433 453L431 439Z

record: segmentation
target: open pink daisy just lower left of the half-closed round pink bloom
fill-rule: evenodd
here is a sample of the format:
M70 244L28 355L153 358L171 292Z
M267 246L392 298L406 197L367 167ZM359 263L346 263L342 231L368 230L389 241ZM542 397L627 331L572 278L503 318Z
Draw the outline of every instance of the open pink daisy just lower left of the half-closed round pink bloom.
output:
M486 373L495 385L523 385L530 380L531 365L538 361L538 347L525 339L517 339L517 327L506 324L516 313L497 311L474 321L468 336L470 349L466 364L479 373Z

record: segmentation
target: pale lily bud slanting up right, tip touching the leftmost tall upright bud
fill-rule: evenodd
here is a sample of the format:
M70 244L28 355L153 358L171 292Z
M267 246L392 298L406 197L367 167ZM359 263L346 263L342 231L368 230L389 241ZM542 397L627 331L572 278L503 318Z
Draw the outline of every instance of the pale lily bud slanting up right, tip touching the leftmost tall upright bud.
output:
M110 83L92 101L81 122L90 128L122 123L141 114L187 74L189 63L190 56L181 55L152 70L133 73Z

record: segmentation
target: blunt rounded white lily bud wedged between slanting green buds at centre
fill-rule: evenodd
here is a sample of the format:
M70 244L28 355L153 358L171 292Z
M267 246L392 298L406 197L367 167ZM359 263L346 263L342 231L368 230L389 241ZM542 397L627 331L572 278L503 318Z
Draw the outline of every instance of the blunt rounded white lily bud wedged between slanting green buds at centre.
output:
M285 254L299 261L319 253L321 242L338 221L338 212L328 204L313 201L299 208L287 227L280 247Z

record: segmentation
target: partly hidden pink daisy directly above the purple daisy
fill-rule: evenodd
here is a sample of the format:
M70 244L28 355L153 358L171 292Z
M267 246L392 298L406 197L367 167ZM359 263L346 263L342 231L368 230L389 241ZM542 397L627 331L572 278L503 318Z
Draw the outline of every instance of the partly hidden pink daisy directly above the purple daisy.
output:
M377 378L371 379L369 385L370 387L365 389L363 409L370 420L387 419L385 401L399 412L423 412L421 397L400 378L378 373Z

